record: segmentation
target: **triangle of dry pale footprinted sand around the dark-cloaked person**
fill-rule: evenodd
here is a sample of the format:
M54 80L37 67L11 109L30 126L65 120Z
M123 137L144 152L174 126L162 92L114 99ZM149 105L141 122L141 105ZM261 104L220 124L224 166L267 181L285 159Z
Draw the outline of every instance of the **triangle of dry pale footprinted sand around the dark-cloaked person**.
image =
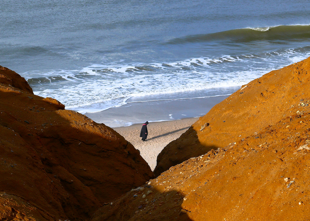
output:
M179 138L199 118L185 118L180 120L150 122L148 124L148 138L142 141L140 130L142 124L134 124L128 127L113 128L125 139L131 142L140 151L141 156L154 170L157 155L171 141Z

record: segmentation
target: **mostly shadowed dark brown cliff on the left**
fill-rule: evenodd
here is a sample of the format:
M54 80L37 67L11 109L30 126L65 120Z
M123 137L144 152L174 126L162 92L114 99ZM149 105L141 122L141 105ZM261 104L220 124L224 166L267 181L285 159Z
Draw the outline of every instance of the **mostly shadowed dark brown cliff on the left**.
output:
M4 67L0 153L3 219L87 220L103 203L153 177L139 151L113 129L33 95Z

